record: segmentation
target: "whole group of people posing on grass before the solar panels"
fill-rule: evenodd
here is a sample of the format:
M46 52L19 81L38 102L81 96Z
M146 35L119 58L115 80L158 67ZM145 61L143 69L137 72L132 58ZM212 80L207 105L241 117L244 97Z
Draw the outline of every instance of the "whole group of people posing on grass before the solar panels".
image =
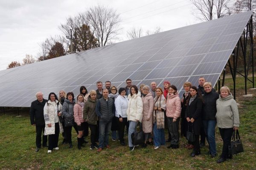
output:
M169 81L163 82L163 89L157 87L155 82L150 86L141 84L140 91L132 85L131 79L126 80L126 87L119 89L111 86L110 81L97 82L97 89L87 91L81 86L80 94L76 100L73 92L67 94L61 90L59 98L54 92L43 98L42 92L37 92L37 100L30 107L31 124L36 127L36 152L41 146L47 147L48 153L58 150L59 133L63 135L63 144L68 143L73 147L71 131L72 127L77 133L77 147L81 150L84 137L89 135L90 149L96 148L101 152L109 148L109 134L112 131L112 140L119 139L125 146L125 127L128 132L128 146L130 151L136 147L132 143L131 134L142 124L145 141L142 147L154 144L158 149L166 142L170 142L167 148L179 148L179 124L180 134L185 136L187 131L192 132L195 140L188 141L186 148L193 149L190 156L201 154L201 141L204 136L209 144L209 155L216 156L215 126L219 128L223 140L223 148L218 163L232 158L229 154L229 144L233 130L239 127L239 113L236 101L227 86L220 89L220 94L215 92L210 82L203 77L198 80L198 87L190 82L185 82L185 90L182 98L179 97L177 87ZM168 129L168 140L165 139L164 129ZM42 135L42 132L44 133ZM41 145L41 137L43 144ZM97 144L99 143L99 144ZM202 147L202 146L201 146Z

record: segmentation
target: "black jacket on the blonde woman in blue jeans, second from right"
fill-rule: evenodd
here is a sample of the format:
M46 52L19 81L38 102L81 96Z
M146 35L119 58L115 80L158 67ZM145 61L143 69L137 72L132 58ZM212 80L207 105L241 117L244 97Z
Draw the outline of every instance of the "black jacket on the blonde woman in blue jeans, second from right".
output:
M217 112L216 109L216 100L219 98L219 94L216 92L204 93L204 106L202 112L203 120L216 120L215 115Z

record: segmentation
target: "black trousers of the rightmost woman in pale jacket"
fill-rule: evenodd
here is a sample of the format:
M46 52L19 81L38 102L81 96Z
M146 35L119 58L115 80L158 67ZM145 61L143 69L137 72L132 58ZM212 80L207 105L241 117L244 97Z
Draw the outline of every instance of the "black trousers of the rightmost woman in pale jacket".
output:
M232 127L232 128L223 128L223 129L219 128L219 130L220 130L221 138L223 141L221 157L228 158L228 146L230 145L230 141L231 141L234 129Z

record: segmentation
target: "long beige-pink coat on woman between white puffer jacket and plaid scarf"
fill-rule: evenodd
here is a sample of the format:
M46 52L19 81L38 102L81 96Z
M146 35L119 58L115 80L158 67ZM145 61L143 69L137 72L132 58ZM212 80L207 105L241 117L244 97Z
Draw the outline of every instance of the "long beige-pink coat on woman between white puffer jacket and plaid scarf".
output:
M143 118L142 118L142 129L144 133L152 133L153 131L153 107L154 98L151 92L144 97L143 101Z

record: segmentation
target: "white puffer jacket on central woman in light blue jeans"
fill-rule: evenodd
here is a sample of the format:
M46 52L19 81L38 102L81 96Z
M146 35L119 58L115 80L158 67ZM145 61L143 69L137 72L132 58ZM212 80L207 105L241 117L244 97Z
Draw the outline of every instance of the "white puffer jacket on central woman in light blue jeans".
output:
M143 112L143 102L140 97L140 92L136 95L128 95L128 108L127 108L127 117L128 121L142 121L142 112Z

